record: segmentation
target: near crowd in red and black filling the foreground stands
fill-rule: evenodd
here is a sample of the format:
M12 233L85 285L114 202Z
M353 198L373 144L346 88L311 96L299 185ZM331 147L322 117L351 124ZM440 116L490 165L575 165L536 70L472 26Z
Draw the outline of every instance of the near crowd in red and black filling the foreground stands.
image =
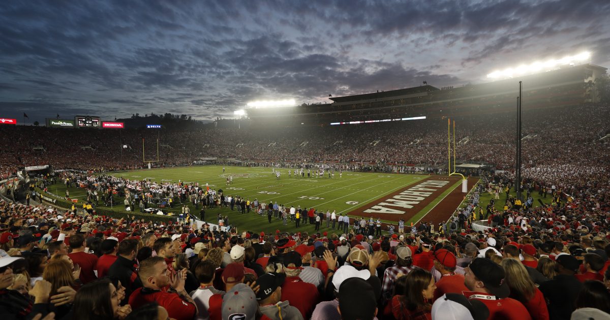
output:
M553 185L548 205L520 205L506 197L504 210L489 213L478 211L486 205L478 204L479 193L509 187L511 179L504 172L484 182L470 199L468 219L449 229L419 226L392 235L353 228L238 233L233 227L198 229L184 222L155 224L0 202L0 314L7 319L610 317L607 177ZM134 190L162 187L121 183L134 184ZM523 187L538 192L539 183L528 178ZM563 196L566 190L570 197ZM472 229L472 220L488 219L489 229Z

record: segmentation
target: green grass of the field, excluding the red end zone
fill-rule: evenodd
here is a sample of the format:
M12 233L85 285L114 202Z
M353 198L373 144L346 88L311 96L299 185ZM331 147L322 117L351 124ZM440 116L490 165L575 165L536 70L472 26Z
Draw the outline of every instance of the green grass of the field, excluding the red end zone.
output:
M337 213L349 213L352 210L362 207L369 202L373 202L379 197L386 194L402 190L407 186L417 183L425 179L427 175L414 174L387 174L387 173L368 173L368 172L343 172L342 177L339 177L339 172L335 172L334 179L329 179L328 173L325 177L307 178L288 176L288 169L279 169L281 178L276 177L271 173L271 168L246 168L240 166L225 166L223 174L223 166L192 166L181 168L164 168L151 169L140 171L127 171L111 173L112 176L125 177L127 179L151 179L157 182L199 182L200 186L205 186L209 183L210 188L218 190L221 188L225 195L242 196L245 199L259 202L278 202L283 205L293 205L301 208L315 207L317 210L336 210ZM226 177L232 175L233 182L231 185L226 185ZM434 205L436 205L445 194L449 193L455 187L458 187L459 182L450 187L441 196L434 199L426 208L418 212L414 218L406 221L408 225L411 221L415 222L422 218ZM58 184L49 186L49 191L63 196L65 194L65 186ZM70 188L70 196L72 198L85 198L85 191L79 188ZM123 199L120 199L122 203ZM198 216L198 210L189 203L191 213ZM182 205L178 202L174 203L174 208L171 210L176 215L181 211ZM115 206L113 210L123 212L123 205ZM106 208L102 207L101 208ZM254 215L252 212L246 215L240 215L237 211L231 211L230 208L214 208L206 210L206 220L212 223L217 223L216 216L218 214L229 217L229 222L232 225L238 226L241 230L253 230L255 232L264 231L272 232L276 229L282 231L296 231L295 223L288 221L287 226L282 225L279 219L272 219L271 224L268 223L267 217ZM393 221L384 221L393 222ZM395 222L393 222L395 223ZM323 227L326 223L323 222ZM323 231L325 228L321 228ZM298 231L313 232L314 226L309 224L303 225Z

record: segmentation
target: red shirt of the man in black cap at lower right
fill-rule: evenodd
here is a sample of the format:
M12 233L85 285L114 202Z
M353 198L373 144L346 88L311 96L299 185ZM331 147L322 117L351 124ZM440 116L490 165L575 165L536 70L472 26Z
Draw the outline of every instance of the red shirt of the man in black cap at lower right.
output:
M497 299L495 296L491 296L487 293L480 292L472 292L467 291L464 292L464 296L468 297L468 299L478 299L483 302L484 305L489 309L489 318L494 320L531 320L531 316L529 315L529 311L525 308L521 302L512 299L512 298L504 298ZM477 297L479 296L479 297ZM488 297L488 298L486 298Z

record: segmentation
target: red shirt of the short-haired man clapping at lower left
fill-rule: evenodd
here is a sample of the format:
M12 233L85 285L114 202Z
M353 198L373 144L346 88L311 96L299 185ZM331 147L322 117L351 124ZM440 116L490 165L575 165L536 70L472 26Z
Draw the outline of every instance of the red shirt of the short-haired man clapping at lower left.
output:
M157 304L167 310L170 318L176 320L192 320L195 318L195 313L197 311L195 305L185 302L177 293L167 293L148 288L137 288L131 296L129 296L129 305L131 305L134 310L151 302L157 302Z

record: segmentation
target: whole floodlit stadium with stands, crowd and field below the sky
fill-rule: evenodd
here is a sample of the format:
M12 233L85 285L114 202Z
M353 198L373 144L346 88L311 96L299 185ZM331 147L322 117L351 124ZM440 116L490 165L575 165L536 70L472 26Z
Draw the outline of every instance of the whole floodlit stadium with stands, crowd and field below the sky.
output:
M231 45L256 56L246 42ZM610 319L610 77L594 54L195 116L7 110L0 314Z

